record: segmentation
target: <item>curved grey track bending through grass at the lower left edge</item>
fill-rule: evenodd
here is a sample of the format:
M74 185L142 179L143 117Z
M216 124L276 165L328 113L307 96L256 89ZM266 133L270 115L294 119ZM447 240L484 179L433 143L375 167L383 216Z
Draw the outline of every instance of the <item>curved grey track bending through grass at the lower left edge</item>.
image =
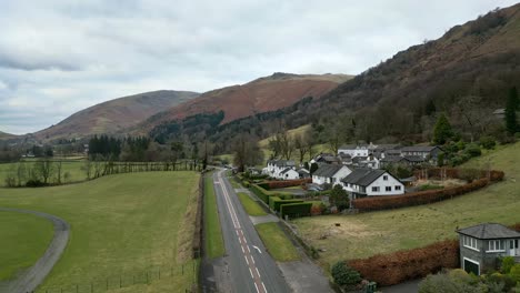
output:
M60 255L67 246L67 242L69 241L70 226L62 219L48 213L8 208L0 208L0 212L33 214L51 221L52 225L54 226L54 235L49 244L49 247L43 253L43 256L41 256L34 265L23 271L16 280L8 282L7 284L0 287L0 292L32 292L37 289L39 284L41 284L41 282L43 282L46 276L52 270L52 266L54 266L54 264L60 259ZM4 291L2 291L3 287Z

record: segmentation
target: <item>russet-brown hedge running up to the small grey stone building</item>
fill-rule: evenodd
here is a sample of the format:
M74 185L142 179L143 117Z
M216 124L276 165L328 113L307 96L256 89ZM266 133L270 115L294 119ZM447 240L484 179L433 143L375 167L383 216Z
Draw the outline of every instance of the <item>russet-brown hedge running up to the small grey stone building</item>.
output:
M446 240L424 247L347 261L363 279L388 286L424 277L441 269L459 267L459 241Z

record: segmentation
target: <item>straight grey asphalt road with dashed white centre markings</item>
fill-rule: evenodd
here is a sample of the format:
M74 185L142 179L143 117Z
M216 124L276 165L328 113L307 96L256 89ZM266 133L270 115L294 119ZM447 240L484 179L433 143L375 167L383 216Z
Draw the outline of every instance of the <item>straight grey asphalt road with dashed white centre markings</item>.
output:
M213 174L226 253L224 292L290 292L281 271L263 246L226 171Z

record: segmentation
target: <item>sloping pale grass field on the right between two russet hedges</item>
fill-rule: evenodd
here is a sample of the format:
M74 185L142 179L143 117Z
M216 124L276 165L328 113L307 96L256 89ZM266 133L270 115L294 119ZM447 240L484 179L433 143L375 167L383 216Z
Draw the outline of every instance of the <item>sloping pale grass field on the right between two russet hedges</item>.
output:
M464 166L479 166L488 159L491 159L491 168L506 172L506 180L453 200L357 215L301 218L293 223L311 245L326 250L320 255L327 269L339 260L368 257L454 239L458 228L481 222L518 223L520 143L500 146Z

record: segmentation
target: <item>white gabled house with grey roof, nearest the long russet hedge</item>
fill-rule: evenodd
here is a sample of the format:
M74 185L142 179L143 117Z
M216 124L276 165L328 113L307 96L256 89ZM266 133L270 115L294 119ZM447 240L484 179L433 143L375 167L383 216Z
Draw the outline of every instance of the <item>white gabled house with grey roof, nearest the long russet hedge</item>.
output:
M404 193L401 181L384 170L354 169L341 183L352 199Z

